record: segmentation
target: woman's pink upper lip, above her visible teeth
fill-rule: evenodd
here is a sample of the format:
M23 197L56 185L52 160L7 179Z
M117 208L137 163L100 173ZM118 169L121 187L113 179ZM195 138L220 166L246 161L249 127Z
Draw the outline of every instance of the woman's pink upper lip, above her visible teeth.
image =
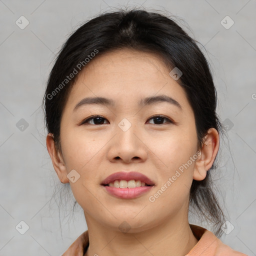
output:
M130 172L119 171L119 172L112 173L102 181L101 185L109 184L110 182L117 179L120 179L120 180L135 179L135 180L140 180L142 182L145 182L147 185L154 185L153 181L150 180L147 176L136 171L130 171Z

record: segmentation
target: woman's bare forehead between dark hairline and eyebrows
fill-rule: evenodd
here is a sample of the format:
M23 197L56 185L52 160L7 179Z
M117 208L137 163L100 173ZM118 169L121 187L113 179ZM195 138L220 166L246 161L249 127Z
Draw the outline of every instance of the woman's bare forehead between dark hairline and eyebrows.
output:
M154 53L132 49L107 52L90 60L79 73L67 105L74 107L85 96L101 96L128 106L143 97L166 94L185 107L185 91L169 72Z

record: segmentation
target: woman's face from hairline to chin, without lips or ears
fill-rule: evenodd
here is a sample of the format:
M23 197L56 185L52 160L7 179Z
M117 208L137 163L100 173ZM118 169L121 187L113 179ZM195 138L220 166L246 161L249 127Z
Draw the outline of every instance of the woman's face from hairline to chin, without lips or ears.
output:
M185 91L169 72L152 53L119 49L92 59L78 76L63 109L60 143L63 173L74 169L73 180L79 176L65 182L86 221L116 230L126 221L137 232L187 217L198 158L196 127ZM156 96L172 102L139 104ZM75 108L86 97L104 97L112 104L87 102ZM115 196L101 183L119 171L142 173L153 185L133 198Z

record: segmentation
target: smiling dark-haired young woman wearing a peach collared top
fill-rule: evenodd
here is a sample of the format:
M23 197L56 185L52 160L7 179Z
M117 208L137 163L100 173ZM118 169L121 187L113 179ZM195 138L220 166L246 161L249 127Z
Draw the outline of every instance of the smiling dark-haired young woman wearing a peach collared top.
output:
M63 45L44 101L47 150L88 227L63 255L245 255L217 238L216 91L172 19L133 9L89 20ZM189 224L189 205L214 233Z

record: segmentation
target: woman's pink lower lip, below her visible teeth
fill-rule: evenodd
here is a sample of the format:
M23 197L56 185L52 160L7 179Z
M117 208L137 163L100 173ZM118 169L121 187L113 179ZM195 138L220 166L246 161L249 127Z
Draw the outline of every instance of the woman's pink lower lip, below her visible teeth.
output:
M152 186L138 186L134 188L117 188L113 186L104 186L106 191L119 198L135 198L148 192Z

